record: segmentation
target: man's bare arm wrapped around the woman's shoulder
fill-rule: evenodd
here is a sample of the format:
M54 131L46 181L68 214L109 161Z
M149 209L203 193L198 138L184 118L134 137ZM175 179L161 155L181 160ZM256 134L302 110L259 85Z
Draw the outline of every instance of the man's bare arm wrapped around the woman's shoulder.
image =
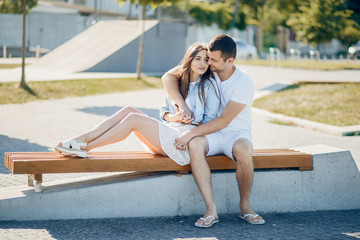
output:
M175 102L176 105L179 106L179 110L183 110L185 117L187 117L188 119L191 119L192 113L189 110L189 108L187 107L184 98L180 94L179 79L176 76L174 76L173 74L171 74L171 73L174 73L177 69L178 69L178 67L173 68L170 71L168 71L167 73L165 73L161 77L161 80L162 80L165 90L168 93L168 95L170 96L170 98Z

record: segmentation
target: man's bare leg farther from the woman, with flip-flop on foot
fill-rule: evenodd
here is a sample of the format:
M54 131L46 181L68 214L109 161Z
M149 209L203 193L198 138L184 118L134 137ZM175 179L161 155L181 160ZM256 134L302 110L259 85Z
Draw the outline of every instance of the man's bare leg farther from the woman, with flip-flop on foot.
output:
M249 140L241 138L234 143L233 155L236 159L236 180L240 192L240 211L243 216L256 214L250 208L250 192L254 175L252 152L253 147ZM258 216L254 219L249 216L247 219L251 222L259 222L262 218Z

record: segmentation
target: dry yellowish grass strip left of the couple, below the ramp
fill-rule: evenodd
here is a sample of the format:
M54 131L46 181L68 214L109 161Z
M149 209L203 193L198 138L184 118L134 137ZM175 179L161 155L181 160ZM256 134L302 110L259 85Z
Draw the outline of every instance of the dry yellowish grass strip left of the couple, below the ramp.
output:
M162 88L157 77L114 79L85 79L48 82L28 82L29 89L18 88L19 83L0 83L0 104L26 103L35 100L60 99L114 92Z

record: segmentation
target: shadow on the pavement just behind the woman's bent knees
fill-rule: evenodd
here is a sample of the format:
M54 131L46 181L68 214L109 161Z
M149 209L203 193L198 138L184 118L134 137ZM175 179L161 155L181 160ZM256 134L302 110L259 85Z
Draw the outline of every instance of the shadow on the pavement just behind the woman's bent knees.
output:
M78 109L79 111L89 113L89 114L96 114L96 115L105 115L110 117L117 111L119 111L122 106L114 106L114 107L88 107L88 108L81 108ZM145 113L149 117L155 118L159 120L159 110L158 109L151 109L151 108L136 108L137 110Z

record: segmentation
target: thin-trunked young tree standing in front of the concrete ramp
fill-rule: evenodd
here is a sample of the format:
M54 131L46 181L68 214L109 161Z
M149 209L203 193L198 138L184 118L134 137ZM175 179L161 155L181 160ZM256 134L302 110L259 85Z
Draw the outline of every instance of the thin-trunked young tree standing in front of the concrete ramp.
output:
M141 78L141 69L142 69L142 63L143 63L143 56L144 56L144 41L145 41L145 20L146 20L146 6L150 6L151 8L155 9L158 6L161 6L163 4L170 5L177 0L116 0L118 3L122 4L124 2L130 2L131 4L134 4L135 2L139 3L139 5L142 6L142 32L140 36L140 43L139 43L139 52L138 52L138 61L137 61L137 67L136 67L136 75L137 79Z

